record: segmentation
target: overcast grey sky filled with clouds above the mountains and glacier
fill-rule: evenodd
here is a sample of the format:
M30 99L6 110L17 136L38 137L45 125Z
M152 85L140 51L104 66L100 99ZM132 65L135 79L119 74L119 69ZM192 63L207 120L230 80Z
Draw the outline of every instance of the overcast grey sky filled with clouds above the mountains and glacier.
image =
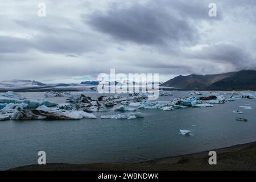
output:
M1 0L0 8L0 80L80 82L115 68L167 81L256 69L254 0Z

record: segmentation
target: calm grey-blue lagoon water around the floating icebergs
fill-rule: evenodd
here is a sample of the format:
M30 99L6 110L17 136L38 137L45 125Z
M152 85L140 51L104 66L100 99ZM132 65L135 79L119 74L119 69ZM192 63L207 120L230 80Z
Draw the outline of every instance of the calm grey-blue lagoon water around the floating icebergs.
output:
M171 101L188 96L188 92L173 93L159 99ZM22 94L31 99L43 98L43 93ZM98 96L93 92L85 94ZM47 100L65 102L65 98ZM238 107L245 104L253 110ZM132 120L100 119L100 115L118 113L109 111L94 113L97 119L80 121L3 121L0 169L36 164L41 150L46 151L47 163L134 163L254 142L255 109L256 100L241 99L207 108L138 110L144 118ZM249 121L236 121L236 117ZM182 136L179 129L191 130L193 136Z

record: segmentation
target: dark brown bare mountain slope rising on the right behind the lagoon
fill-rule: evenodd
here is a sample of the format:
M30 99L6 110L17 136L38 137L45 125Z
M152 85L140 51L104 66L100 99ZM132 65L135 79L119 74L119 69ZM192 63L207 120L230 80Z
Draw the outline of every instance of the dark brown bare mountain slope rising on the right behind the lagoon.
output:
M256 71L177 76L160 86L184 90L256 89Z

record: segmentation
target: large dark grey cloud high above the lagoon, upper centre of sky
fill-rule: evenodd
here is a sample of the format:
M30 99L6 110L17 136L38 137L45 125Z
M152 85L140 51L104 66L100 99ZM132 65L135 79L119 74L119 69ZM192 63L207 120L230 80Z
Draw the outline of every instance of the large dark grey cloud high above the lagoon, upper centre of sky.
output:
M188 9L176 6L180 9L170 10L159 5L136 4L127 8L113 6L106 14L96 12L82 15L82 18L94 29L115 39L138 44L190 44L200 39L196 27L183 15L187 15L189 9L188 12L194 11L192 14L195 16L196 10L193 9L198 11L198 6Z

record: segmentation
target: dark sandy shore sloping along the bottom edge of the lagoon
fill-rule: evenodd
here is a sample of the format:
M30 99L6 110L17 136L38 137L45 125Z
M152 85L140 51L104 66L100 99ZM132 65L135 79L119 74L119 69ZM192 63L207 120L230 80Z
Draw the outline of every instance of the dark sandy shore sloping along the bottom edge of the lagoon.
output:
M217 165L209 165L208 151L196 154L173 156L148 162L134 164L61 164L31 165L12 168L10 170L90 170L90 171L121 171L121 170L256 170L256 142L239 144L232 147L214 150L217 152Z

